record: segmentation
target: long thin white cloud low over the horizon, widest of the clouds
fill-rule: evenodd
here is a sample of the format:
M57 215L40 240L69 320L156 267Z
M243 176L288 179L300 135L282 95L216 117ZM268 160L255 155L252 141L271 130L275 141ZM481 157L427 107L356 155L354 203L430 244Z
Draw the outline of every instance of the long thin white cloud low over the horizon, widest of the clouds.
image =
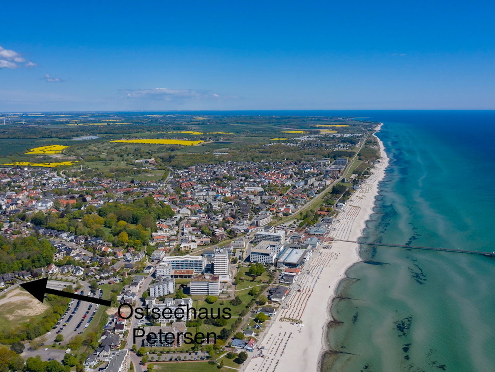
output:
M184 101L194 99L220 99L216 93L205 90L192 89L122 89L124 97L128 99L154 100L154 101Z

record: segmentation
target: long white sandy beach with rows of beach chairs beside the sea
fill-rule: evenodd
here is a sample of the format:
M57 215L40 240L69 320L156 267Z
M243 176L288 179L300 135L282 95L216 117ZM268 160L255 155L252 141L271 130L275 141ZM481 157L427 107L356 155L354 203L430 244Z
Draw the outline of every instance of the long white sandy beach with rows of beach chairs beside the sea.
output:
M344 211L333 223L330 236L335 239L356 241L365 222L373 212L378 182L383 179L389 159L381 141L380 162L371 170L372 175L347 201ZM331 248L330 244L332 244ZM358 245L333 242L314 252L306 263L297 284L301 291L291 291L288 308L279 310L273 324L261 336L258 346L263 346L264 357L249 360L246 372L317 371L326 350L326 324L331 320L329 305L347 269L360 261ZM282 318L300 319L298 327ZM260 353L260 354L261 354Z

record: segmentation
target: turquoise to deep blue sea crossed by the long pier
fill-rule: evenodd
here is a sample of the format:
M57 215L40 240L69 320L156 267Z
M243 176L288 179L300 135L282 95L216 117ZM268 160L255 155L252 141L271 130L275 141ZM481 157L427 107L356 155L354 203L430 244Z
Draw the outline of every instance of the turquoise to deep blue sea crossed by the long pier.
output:
M495 112L382 111L391 165L367 242L495 251ZM495 258L362 246L323 371L495 371Z

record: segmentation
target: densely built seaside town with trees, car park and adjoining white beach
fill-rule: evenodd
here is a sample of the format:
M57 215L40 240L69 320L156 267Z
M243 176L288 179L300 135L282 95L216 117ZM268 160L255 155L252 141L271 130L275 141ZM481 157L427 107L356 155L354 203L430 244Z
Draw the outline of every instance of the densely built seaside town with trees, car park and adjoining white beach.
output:
M362 156L382 148L373 131L327 138L342 156L199 162L152 180L1 167L0 309L39 309L32 315L45 320L3 332L0 343L28 366L78 372L192 362L265 372L294 365L285 353L303 353L301 366L318 360L294 340L320 335L311 343L325 348L321 299L359 260L344 241L360 235L386 166L383 153ZM339 145L348 138L355 143ZM300 141L309 144L290 143ZM160 162L132 161L148 170ZM49 288L111 307L51 295L41 304L21 291L44 277ZM162 315L129 315L138 308ZM177 316L184 308L194 314Z

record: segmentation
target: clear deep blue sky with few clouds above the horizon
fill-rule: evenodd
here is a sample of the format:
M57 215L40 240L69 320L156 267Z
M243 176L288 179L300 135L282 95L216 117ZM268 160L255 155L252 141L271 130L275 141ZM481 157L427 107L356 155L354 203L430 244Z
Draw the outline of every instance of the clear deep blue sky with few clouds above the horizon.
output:
M494 109L494 3L4 2L0 110Z

